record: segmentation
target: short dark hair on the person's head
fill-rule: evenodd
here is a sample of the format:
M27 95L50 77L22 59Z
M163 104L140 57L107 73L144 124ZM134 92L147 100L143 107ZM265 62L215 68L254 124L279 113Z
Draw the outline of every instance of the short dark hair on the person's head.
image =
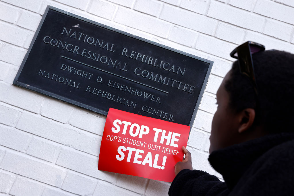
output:
M235 61L225 83L230 108L235 112L255 109L254 125L263 125L269 133L294 132L294 55L269 50L253 54L252 59L258 96Z

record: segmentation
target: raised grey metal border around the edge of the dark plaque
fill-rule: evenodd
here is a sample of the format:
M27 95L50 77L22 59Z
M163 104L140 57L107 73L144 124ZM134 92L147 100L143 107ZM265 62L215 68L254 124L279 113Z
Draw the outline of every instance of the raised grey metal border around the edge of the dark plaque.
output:
M198 56L195 56L195 55L192 55L192 54L189 54L189 53L186 53L186 52L183 52L183 51L180 51L180 50L177 50L177 49L174 49L174 48L171 48L171 47L168 47L168 46L165 46L165 45L159 44L159 43L156 43L156 42L154 42L154 41L147 40L147 39L145 39L145 38L141 38L141 37L136 36L136 35L133 35L133 34L131 34L131 33L127 33L127 32L125 32L125 31L121 31L121 30L115 29L115 28L113 28L113 27L110 27L110 26L107 26L107 25L104 25L104 24L101 24L101 23L98 23L98 22L92 21L92 20L90 20L90 19L86 19L86 18L84 18L84 17L82 17L82 16L78 16L78 15L76 15L76 14L69 13L68 11L64 11L64 10L58 9L58 8L53 7L53 6L50 6L50 5L47 5L47 7L46 7L46 10L45 10L45 12L44 12L44 14L43 14L43 16L42 16L41 21L40 21L40 24L39 24L39 26L38 26L38 28L37 28L35 34L34 34L34 37L33 37L32 41L31 41L31 43L30 43L30 46L29 46L29 48L28 48L28 50L27 50L27 52L26 52L26 55L24 56L24 59L23 59L23 61L21 62L21 66L19 67L19 70L18 70L18 72L17 72L17 74L16 74L16 76L15 76L15 78L14 78L13 84L14 84L15 86L25 87L25 88L30 89L30 90L32 90L32 91L35 91L35 92L37 92L37 93L41 93L41 94L43 94L43 95L45 95L45 96L49 96L49 97L51 97L51 98L55 98L55 99L57 99L57 100L61 100L61 101L64 101L64 102L66 102L66 103L70 103L70 104L73 104L73 105L79 106L79 107L81 107L81 108L84 108L84 109L87 109L87 110L91 110L91 111L93 111L93 112L95 112L95 113L99 113L99 114L101 114L101 115L105 115L105 116L107 116L107 113L108 113L108 112L106 112L106 111L104 111L104 110L100 110L100 109L98 109L98 108L94 108L94 107L91 107L91 106L89 106L89 105L86 105L86 104L83 104L83 103L77 102L77 101L75 101L75 100L72 100L72 99L69 99L69 98L66 98L66 97L63 97L63 96L59 96L59 95L56 95L55 93L51 93L51 92L48 92L48 91L42 90L42 89L40 89L40 88L36 88L36 87L34 87L34 86L29 86L29 85L27 85L27 84L25 84L25 83L22 83L22 82L18 82L18 81L17 81L17 79L19 78L19 75L20 75L20 73L21 73L21 71L22 71L22 69L23 69L23 67L24 67L24 64L26 63L26 60L27 60L27 58L28 58L28 56L29 56L29 53L30 53L30 51L31 51L31 48L33 47L33 45L34 45L34 43L35 43L35 41L36 41L36 38L37 38L37 36L39 35L40 29L41 29L41 27L42 27L42 25L43 25L43 23L44 23L44 20L45 20L45 18L46 18L46 16L47 16L47 13L48 13L49 9L52 9L52 10L54 10L54 11L58 11L58 12L60 12L60 13L62 13L62 14L66 14L66 15L68 15L68 16L72 16L72 17L75 17L75 18L77 18L77 19L80 19L80 20L83 20L83 21L86 21L86 22L89 22L89 23L92 23L92 24L95 24L95 25L101 26L101 27L103 27L103 28L106 28L106 29L109 29L109 30L112 30L112 31L116 31L116 32L121 33L121 34L123 34L123 35L125 35L125 36L129 36L129 37L132 37L132 38L136 38L136 39L141 40L141 41L144 41L144 42L146 42L146 43L150 43L150 44L153 44L153 45L155 45L155 46L159 46L159 47L161 47L161 48L165 48L165 49L167 49L167 50L170 50L170 51L173 51L173 52L176 52L176 53L179 53L179 54L182 54L182 55L185 55L185 56L189 56L189 57L191 57L191 58L195 58L195 59L197 59L197 60L200 60L200 61L203 61L203 62L209 63L208 71L207 71L206 76L205 76L205 79L204 79L204 81L203 81L203 84L202 84L202 87L201 87L201 91L200 91L200 94L199 94L198 100L197 100L197 102L196 102L196 106L195 106L195 108L194 108L194 111L193 111L193 114L192 114L192 117L191 117L191 120L190 120L190 123L189 123L189 126L190 126L190 132L191 132L191 129L192 129L192 127L193 127L193 123L194 123L194 120L195 120L195 117L196 117L196 114L197 114L197 110L198 110L198 108L199 108L199 105L200 105L201 99L202 99L202 97L203 97L204 90L205 90L205 88L206 88L206 84L207 84L207 82L208 82L208 78L209 78L210 73L211 73L211 69L212 69L212 66L213 66L213 61L210 61L210 60L207 60L207 59L205 59L205 58L201 58L201 57L198 57Z

